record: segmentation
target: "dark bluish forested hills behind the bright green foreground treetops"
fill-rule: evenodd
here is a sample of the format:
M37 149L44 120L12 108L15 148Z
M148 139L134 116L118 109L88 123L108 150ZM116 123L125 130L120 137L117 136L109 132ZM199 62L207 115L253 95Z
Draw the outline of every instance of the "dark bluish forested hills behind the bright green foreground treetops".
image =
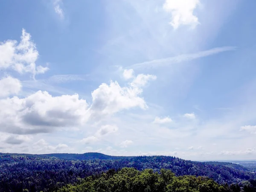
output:
M196 162L170 156L116 157L85 154L0 154L0 191L51 191L109 169L169 169L176 176L207 176L217 183L241 183L256 175L233 163ZM3 190L4 189L4 190Z

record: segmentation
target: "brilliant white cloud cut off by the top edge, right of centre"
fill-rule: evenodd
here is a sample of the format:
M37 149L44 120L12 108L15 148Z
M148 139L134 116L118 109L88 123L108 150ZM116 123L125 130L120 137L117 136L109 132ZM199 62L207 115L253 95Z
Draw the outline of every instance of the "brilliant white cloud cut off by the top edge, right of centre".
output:
M163 9L166 12L171 12L171 25L174 29L177 29L180 25L195 27L199 24L199 21L193 12L199 3L199 0L166 0Z

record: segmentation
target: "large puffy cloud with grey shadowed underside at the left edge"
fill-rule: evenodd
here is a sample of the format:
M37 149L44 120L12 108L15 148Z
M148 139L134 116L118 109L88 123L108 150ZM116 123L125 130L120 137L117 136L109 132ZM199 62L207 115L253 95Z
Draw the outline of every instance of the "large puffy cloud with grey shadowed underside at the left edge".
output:
M0 131L16 134L50 132L81 125L89 118L87 102L77 94L54 97L38 91L23 99L1 99L0 106Z

